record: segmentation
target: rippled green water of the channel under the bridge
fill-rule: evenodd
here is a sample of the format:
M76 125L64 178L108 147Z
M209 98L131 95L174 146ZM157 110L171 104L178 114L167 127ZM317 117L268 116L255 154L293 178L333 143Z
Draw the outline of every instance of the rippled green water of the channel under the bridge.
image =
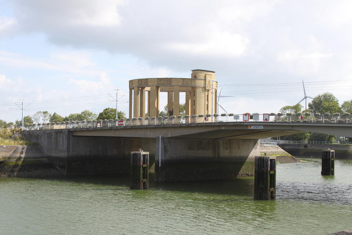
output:
M151 183L128 176L0 178L0 234L328 234L352 228L352 160L277 165L277 199L254 178Z

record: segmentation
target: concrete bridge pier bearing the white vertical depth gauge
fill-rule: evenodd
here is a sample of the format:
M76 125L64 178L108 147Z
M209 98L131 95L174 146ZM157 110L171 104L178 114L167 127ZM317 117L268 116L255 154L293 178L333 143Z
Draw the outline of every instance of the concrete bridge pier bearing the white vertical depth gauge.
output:
M185 181L254 175L258 140L156 140L155 181Z

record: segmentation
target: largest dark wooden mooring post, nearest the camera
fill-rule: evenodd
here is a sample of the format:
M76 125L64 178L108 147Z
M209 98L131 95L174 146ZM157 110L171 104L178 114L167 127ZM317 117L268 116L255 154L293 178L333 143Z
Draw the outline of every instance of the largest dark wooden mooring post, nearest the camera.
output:
M276 157L256 156L254 162L254 199L268 200L275 198Z

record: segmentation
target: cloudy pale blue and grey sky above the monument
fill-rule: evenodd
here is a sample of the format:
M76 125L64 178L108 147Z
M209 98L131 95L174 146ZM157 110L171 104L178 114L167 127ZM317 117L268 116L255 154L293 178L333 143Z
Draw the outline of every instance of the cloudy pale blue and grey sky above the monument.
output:
M116 107L114 88L128 115L129 80L192 69L215 71L228 113L277 113L304 97L302 80L341 104L351 11L350 0L0 0L0 119L20 120L21 98L24 116L99 113Z

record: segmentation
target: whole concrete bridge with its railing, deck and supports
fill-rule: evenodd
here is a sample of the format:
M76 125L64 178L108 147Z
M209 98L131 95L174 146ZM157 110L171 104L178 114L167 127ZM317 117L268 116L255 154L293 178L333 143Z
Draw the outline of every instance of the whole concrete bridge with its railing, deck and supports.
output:
M260 138L308 131L352 137L350 116L323 117L323 122L314 116L299 122L294 117L285 120L284 115L281 120L270 116L269 121L234 120L234 116L243 117L213 116L213 122L197 116L36 124L25 126L24 133L66 175L128 173L130 152L149 151L156 181L253 175Z

